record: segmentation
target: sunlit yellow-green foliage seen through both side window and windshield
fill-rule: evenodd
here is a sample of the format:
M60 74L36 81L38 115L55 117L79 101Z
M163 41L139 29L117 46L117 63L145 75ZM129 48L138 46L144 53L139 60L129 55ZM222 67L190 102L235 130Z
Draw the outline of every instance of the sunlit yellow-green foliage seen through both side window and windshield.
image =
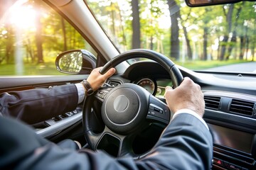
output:
M87 0L87 4L95 13L97 20L121 52L132 48L132 1ZM175 62L181 64L188 62L189 65L191 62L201 60L214 60L216 63L222 64L228 64L225 60L237 60L238 62L254 60L255 2L245 1L232 5L201 8L189 8L183 0L175 0L175 2L180 10L178 46L181 56ZM15 14L11 11L6 13L6 20L1 19L4 21L0 25L1 74L38 74L26 69L41 70L40 68L48 68L48 66L51 68L50 65L54 67L54 64L50 64L50 62L54 63L55 57L60 52L91 48L73 26L43 1L29 0L23 4L23 8L25 11L16 10L16 15L19 12L18 15L23 16L23 18L19 17L21 21L11 21L11 18L14 18L12 15ZM175 10L169 9L167 0L139 1L142 48L156 50L171 58L170 18ZM24 16L26 11L34 12L34 15L31 15L35 16L35 18L32 17L33 22L27 22L31 17ZM35 26L33 23L38 23L38 25ZM40 49L40 44L42 49ZM38 63L40 52L43 54L44 62L41 64ZM17 66L15 66L17 60L21 60L24 69L22 73L17 73ZM203 62L198 63L203 64ZM30 64L31 67L28 66ZM208 64L203 65L212 67ZM13 70L7 72L6 68ZM45 70L43 74L48 74L46 69L43 70ZM49 74L58 73L51 71Z

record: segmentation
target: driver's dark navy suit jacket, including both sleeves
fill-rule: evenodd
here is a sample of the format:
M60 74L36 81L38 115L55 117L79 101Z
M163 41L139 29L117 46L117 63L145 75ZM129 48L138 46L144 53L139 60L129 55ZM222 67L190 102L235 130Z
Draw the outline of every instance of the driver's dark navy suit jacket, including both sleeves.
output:
M63 92L65 91L65 92ZM57 96L57 97L56 97ZM8 103L8 104L6 104ZM75 85L1 95L4 115L35 123L75 109ZM21 105L26 107L22 108ZM63 149L26 125L0 116L0 169L210 169L213 142L209 130L193 115L180 114L164 130L148 156L114 159L105 152Z

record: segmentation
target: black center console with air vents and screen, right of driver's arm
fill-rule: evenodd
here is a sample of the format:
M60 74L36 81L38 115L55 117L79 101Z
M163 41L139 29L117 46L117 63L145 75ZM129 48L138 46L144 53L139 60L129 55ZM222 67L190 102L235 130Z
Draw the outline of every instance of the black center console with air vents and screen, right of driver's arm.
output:
M213 169L256 169L256 97L204 91L213 136Z

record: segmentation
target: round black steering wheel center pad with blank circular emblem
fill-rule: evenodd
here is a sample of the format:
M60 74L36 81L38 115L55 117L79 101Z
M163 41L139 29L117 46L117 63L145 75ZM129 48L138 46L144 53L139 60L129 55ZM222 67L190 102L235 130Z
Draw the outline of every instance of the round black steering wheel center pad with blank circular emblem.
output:
M102 120L113 132L127 134L137 130L146 117L149 98L135 84L121 84L110 91L102 103Z

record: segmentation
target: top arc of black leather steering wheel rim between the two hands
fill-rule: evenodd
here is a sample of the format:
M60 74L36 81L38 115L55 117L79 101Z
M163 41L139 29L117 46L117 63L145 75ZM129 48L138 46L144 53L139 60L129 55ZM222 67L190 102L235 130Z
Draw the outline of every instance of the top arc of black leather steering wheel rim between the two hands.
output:
M120 64L121 62L138 57L154 60L155 62L161 64L161 66L169 72L171 80L173 81L174 88L180 85L183 81L181 72L176 67L174 62L172 62L168 57L162 55L159 52L144 49L129 50L120 55L117 55L117 57L114 57L112 60L105 64L105 66L100 70L100 74L104 74L108 69L117 66L117 64Z

